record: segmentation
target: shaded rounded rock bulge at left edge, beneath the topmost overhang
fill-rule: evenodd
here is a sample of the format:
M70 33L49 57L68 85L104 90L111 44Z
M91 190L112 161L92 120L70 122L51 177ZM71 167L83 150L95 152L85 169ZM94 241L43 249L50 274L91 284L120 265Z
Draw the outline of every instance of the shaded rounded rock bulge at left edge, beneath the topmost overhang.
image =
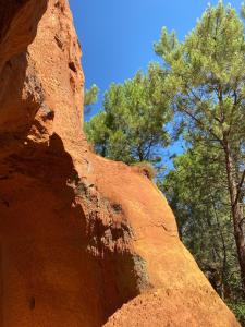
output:
M25 137L45 99L27 56L21 53L7 61L0 75L1 145Z

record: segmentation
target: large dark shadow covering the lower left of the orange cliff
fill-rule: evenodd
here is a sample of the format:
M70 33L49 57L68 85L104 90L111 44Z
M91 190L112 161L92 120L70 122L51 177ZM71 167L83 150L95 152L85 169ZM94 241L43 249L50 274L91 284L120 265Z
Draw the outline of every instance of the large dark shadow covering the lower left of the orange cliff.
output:
M1 165L1 326L99 327L140 292L144 263L102 241L124 231L85 215L74 175L58 135Z

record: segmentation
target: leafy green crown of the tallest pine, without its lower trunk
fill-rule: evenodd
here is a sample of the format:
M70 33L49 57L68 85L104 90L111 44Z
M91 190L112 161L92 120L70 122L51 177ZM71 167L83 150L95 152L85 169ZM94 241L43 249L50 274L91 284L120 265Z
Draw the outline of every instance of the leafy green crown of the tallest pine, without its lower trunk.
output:
M155 49L169 68L166 95L188 118L189 131L217 142L223 133L232 142L244 136L244 25L234 9L209 7L182 44L163 29Z

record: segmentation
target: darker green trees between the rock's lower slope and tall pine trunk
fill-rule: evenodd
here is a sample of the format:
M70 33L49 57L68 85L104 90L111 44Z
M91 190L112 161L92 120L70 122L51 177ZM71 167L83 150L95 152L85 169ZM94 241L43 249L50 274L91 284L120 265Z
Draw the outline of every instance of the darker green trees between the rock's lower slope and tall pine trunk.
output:
M158 184L174 210L182 241L222 298L234 296L235 256L223 154L195 144L174 159L174 169Z

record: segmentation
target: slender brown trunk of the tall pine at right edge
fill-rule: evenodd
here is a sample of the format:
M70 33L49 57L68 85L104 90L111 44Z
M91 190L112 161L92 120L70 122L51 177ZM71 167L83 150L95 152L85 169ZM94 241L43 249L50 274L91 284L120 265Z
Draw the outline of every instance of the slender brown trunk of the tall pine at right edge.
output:
M236 252L238 257L243 290L245 293L245 240L243 231L243 209L240 203L240 198L237 198L240 192L238 182L236 181L236 171L234 160L232 158L231 147L226 140L224 140L223 142L223 148L225 153L228 186L231 199L231 211L234 227Z

